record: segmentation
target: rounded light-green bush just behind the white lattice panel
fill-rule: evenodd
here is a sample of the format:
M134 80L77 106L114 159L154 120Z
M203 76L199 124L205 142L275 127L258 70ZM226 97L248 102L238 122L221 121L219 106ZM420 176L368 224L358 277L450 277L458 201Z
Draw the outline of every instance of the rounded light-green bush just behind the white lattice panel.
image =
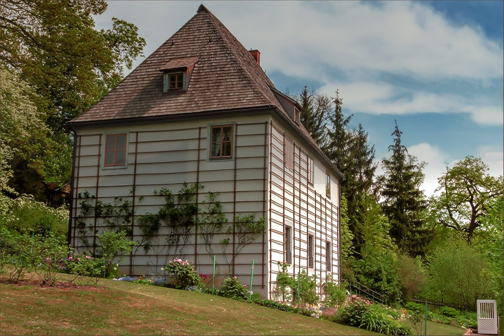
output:
M427 256L429 281L422 296L461 304L474 310L476 299L492 297L487 262L464 237L447 240Z

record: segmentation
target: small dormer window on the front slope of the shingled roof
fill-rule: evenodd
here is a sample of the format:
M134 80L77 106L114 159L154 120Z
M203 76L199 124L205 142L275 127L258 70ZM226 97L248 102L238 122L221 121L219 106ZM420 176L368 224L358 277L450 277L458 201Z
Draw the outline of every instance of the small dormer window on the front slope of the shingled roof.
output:
M187 90L191 81L194 66L200 57L173 58L164 64L160 72L164 73L163 92L180 92Z

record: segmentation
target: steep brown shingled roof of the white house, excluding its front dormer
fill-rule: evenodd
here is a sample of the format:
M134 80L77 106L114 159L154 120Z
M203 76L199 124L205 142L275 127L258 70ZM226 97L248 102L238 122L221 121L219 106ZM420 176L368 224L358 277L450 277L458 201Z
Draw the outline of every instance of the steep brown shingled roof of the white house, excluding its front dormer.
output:
M160 69L172 59L200 57L187 90L163 94ZM135 70L69 124L229 109L277 107L273 83L254 57L203 5Z

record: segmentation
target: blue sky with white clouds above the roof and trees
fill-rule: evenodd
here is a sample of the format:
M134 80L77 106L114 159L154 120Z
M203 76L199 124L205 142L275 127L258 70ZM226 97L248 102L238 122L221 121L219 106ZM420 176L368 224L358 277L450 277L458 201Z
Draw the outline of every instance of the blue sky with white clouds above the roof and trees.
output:
M108 1L96 28L135 24L146 56L201 1ZM428 165L422 189L468 155L490 174L504 167L504 1L205 1L281 91L307 85L334 96L362 123L380 161L397 120L408 153ZM145 57L138 58L134 68ZM125 72L126 74L129 71Z

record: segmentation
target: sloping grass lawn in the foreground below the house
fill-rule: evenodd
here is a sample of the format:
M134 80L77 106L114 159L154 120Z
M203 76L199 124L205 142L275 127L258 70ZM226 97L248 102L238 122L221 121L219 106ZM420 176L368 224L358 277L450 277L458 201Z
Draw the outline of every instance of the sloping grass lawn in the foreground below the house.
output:
M92 289L1 284L0 300L2 335L378 335L222 297L105 279Z

